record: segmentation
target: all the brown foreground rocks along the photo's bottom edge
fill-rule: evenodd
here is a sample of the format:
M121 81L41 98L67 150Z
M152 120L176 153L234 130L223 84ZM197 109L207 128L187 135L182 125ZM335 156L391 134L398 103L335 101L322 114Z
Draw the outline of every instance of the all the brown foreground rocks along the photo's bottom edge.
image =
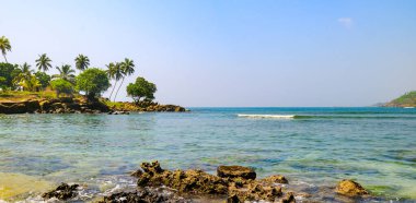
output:
M141 169L132 172L137 178L137 188L118 191L101 198L102 203L151 203L151 202L366 202L380 200L372 196L354 180L342 180L332 188L334 198L316 201L320 193L300 192L290 188L289 180L281 175L256 179L252 168L243 166L219 166L217 176L198 169L166 170L158 162L142 163ZM44 200L77 200L78 184L62 183L57 189L43 194ZM215 198L212 198L215 196Z

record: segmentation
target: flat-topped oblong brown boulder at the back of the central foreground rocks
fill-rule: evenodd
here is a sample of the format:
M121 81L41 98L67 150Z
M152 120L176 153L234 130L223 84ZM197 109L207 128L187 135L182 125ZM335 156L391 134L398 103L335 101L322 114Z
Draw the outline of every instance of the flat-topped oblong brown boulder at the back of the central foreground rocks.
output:
M256 179L256 172L243 166L219 166L217 168L217 176L221 178Z

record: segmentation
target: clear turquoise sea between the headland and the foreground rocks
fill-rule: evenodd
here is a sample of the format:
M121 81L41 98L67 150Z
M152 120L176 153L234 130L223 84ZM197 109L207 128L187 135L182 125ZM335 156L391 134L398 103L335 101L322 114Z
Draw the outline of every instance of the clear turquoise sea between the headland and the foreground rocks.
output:
M235 164L254 167L259 177L285 175L293 184L332 187L353 178L388 199L416 200L416 109L190 109L0 116L0 176L85 183L95 186L90 191L95 195L131 183L119 177L141 162L158 159L164 168L210 172L218 165Z

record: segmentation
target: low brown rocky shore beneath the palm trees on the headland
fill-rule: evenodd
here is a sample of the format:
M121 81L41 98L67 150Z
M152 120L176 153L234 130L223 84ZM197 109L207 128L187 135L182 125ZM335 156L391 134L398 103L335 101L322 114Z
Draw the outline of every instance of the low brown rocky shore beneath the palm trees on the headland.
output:
M174 111L184 112L186 109L175 105L159 105L149 101L142 104L119 103L111 106L104 99L88 100L86 98L51 98L27 99L23 101L0 101L0 114L109 114L124 115L130 111Z

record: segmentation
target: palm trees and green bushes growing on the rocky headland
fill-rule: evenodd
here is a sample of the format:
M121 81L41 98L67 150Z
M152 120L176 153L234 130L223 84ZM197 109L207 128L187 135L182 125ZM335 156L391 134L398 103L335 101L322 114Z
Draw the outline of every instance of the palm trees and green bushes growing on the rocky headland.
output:
M0 50L4 62L0 62L0 96L10 95L10 93L50 96L49 93L55 92L58 97L61 95L67 97L85 95L88 98L95 98L112 86L108 101L111 99L115 101L125 80L136 71L135 61L128 58L118 62L109 62L106 70L102 70L90 68L90 58L85 55L78 55L73 61L74 69L72 69L72 65L67 63L60 67L54 65L54 61L47 53L38 55L33 63L34 69L32 69L32 64L28 62L23 64L9 63L7 53L11 49L10 40L2 36L0 38ZM54 71L53 67L56 67L55 72L57 74L48 73ZM76 75L76 70L79 70L79 75ZM157 86L141 76L127 86L128 95L136 101L154 99L155 91Z

